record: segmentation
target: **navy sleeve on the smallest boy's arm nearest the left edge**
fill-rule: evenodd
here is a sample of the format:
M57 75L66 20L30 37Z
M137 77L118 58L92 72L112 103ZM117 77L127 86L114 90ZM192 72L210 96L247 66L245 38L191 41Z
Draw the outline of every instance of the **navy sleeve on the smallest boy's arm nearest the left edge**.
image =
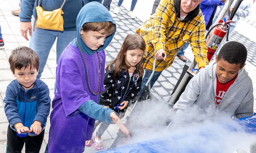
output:
M12 129L14 129L15 123L22 122L17 108L16 97L15 90L12 90L9 85L6 89L3 102L5 103L4 112Z

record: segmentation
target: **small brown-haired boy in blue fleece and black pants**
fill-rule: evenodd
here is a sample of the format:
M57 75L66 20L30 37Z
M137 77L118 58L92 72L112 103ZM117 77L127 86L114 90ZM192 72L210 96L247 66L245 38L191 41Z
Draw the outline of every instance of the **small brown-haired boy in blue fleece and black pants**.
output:
M50 112L51 99L47 85L37 79L39 57L28 47L18 47L9 57L13 80L6 89L3 102L9 122L6 153L39 153Z

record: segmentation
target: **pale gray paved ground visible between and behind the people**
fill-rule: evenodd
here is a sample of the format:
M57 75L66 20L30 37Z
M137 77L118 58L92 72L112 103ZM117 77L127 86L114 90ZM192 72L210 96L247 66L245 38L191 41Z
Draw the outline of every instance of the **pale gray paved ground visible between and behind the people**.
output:
M19 0L0 0L0 25L2 29L3 39L5 43L5 49L0 50L0 152L5 152L6 148L6 134L8 121L4 113L3 99L5 97L5 90L7 85L14 80L13 74L10 70L8 58L11 51L18 46L29 46L29 42L26 41L20 34L19 18L11 14L11 10L18 8ZM124 38L127 34L133 34L137 27L142 24L142 21L150 16L151 8L154 0L141 0L137 2L134 12L137 19L131 19L127 13L130 9L131 0L124 1L121 6L121 10L115 19L117 24L117 32L111 42L106 48L106 65L108 65L116 57ZM111 4L111 11L117 6L117 0L113 0ZM143 6L143 7L142 7ZM252 8L252 13L246 19L242 19L234 32L230 34L230 40L237 40L243 43L248 49L248 58L246 62L246 70L249 72L254 86L254 111L256 112L256 9L255 5ZM191 48L187 48L185 56L190 61L193 60L193 54ZM166 100L177 80L180 77L184 62L176 57L175 62L167 70L163 71L158 81L152 88L152 93L159 100ZM189 62L188 62L189 64ZM54 83L55 83L55 70L56 70L56 43L54 44L49 54L44 72L42 74L42 80L48 85L50 89L50 97L54 97ZM49 117L47 126L45 129L45 137L42 144L40 153L43 153L48 141L49 131ZM110 125L108 130L102 136L104 140L104 148L107 149L116 136L118 128L116 125ZM94 144L91 147L85 147L85 152L97 152L95 151ZM25 152L23 150L23 152Z

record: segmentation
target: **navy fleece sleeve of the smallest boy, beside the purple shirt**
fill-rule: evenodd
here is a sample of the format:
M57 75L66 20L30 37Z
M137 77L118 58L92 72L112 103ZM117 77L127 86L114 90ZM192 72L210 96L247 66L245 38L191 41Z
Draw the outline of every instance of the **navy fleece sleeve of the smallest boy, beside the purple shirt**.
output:
M42 84L43 87L39 88L39 99L38 99L38 111L35 115L34 121L39 121L43 124L45 124L47 120L47 116L50 113L51 108L51 98L49 96L49 89L46 84Z

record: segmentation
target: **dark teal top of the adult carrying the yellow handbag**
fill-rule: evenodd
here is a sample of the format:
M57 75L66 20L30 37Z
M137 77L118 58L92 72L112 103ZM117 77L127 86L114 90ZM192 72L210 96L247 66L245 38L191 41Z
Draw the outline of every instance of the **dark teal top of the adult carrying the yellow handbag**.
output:
M75 31L75 21L81 8L92 0L67 0L63 6L64 31ZM102 0L94 0L102 2ZM40 6L44 11L53 11L60 8L63 0L40 0ZM38 0L22 0L21 11L19 14L20 22L31 22L31 16L37 17L35 7L38 6Z

